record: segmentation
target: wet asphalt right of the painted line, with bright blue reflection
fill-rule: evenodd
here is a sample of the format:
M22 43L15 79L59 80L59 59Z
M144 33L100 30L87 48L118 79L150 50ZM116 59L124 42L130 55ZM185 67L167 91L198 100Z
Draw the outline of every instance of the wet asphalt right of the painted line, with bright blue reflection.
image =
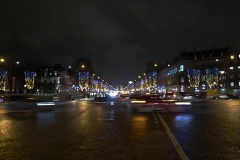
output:
M240 159L240 100L193 103L189 113L160 113L189 159Z

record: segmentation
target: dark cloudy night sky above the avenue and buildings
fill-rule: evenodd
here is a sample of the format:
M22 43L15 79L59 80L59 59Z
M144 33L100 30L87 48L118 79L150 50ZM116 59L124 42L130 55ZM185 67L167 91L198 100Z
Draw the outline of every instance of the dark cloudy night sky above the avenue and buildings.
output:
M127 85L183 49L240 51L239 16L237 0L1 0L0 56L66 67L89 57L102 79Z

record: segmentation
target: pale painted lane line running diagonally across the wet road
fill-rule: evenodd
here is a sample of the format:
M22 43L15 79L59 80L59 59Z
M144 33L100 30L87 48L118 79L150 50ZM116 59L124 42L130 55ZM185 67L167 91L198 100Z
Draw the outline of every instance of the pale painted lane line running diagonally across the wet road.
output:
M174 135L172 134L171 130L169 129L167 123L164 121L164 119L162 118L162 116L157 113L159 119L161 120L169 138L171 139L179 157L182 159L182 160L189 160L189 158L187 157L187 155L185 154L185 152L183 151L182 147L180 146L180 144L178 143L177 139L174 137Z

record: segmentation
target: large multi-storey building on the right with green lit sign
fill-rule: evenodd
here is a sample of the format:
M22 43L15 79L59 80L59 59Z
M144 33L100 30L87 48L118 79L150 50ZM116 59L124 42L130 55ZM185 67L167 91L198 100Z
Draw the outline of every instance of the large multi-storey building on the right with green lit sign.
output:
M158 85L161 91L240 92L240 54L214 46L210 50L182 51L161 66Z

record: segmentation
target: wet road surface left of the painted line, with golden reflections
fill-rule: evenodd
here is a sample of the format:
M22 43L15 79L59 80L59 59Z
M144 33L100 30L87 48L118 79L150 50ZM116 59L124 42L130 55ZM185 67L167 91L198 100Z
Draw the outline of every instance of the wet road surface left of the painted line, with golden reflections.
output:
M127 105L0 112L0 159L180 159L156 113Z

